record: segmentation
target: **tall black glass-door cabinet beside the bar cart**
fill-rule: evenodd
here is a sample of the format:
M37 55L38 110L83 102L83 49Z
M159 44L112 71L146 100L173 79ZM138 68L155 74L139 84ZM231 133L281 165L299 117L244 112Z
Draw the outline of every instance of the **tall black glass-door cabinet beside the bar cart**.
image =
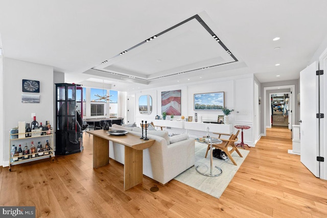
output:
M83 149L83 91L77 84L56 83L56 155Z

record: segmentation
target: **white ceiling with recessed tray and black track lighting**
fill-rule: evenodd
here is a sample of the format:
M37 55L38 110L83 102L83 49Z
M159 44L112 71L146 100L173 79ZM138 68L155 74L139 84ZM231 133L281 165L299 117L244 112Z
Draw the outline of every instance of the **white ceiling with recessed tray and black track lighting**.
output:
M0 34L5 57L54 66L68 83L127 91L242 74L264 83L299 78L327 38L326 9L325 0L0 0Z

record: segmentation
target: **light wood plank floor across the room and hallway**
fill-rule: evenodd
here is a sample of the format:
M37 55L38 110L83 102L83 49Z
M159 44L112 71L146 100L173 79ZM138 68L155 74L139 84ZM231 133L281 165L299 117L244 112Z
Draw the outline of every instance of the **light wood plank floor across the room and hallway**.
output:
M327 181L300 163L286 128L267 129L220 199L172 180L144 177L123 191L123 165L92 168L92 136L84 151L0 168L0 205L36 206L36 217L327 217ZM151 192L152 186L159 191Z

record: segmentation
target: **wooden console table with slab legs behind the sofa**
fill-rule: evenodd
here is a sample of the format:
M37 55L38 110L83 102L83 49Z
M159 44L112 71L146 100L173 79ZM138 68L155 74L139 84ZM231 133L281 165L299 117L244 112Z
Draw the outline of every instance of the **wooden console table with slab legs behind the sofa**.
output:
M128 190L143 181L143 150L151 147L154 139L143 140L139 136L109 135L105 130L87 131L93 135L93 167L109 163L109 141L125 146L124 190Z

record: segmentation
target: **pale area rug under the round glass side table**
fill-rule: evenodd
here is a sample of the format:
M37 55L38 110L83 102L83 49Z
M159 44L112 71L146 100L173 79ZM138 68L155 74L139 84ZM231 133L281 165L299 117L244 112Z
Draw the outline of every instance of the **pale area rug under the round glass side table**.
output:
M209 153L207 158L204 158L206 148L206 144L195 142L194 166L179 174L174 179L193 188L196 188L204 193L207 193L208 195L211 195L215 198L220 198L225 188L240 168L249 151L244 150L242 148L239 149L243 158L240 157L236 152L233 152L231 154L231 156L237 163L237 166L234 165L229 159L220 160L217 158L213 158L213 173L219 174L219 170L215 168L215 166L220 167L223 173L218 177L207 177L199 174L195 169L196 166L200 165L199 169L201 172L210 172Z

